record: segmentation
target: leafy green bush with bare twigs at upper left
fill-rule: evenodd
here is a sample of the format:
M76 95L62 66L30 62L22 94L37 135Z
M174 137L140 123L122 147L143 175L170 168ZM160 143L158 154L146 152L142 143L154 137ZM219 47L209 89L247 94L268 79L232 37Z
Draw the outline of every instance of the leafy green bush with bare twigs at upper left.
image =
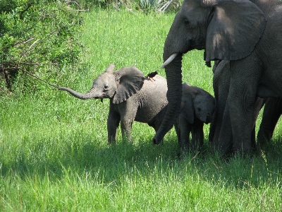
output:
M20 71L54 72L63 64L78 62L82 45L75 35L80 32L82 19L75 11L77 6L67 3L50 0L0 2L1 87L13 90L13 81Z

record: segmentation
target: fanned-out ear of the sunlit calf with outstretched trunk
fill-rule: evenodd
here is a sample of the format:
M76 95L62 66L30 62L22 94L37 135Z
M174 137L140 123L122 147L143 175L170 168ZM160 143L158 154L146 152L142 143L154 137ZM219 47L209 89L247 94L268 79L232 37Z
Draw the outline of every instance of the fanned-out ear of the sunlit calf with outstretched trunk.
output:
M118 84L116 95L114 95L114 104L124 102L137 93L145 81L144 74L135 66L119 69L114 72L114 75Z

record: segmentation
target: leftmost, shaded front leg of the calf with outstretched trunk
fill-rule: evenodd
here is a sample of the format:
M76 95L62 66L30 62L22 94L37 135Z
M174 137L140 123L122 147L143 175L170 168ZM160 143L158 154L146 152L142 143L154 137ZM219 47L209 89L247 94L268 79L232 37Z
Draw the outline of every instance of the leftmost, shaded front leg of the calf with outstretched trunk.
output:
M116 142L116 135L120 121L121 121L120 114L118 114L118 112L114 110L113 105L110 105L108 119L107 119L108 143Z

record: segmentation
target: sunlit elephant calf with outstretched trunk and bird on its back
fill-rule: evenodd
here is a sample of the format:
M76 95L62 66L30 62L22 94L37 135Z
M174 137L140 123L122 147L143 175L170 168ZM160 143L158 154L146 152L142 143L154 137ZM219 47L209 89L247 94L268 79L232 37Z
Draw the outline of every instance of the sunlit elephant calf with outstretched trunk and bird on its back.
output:
M159 75L152 79L145 78L135 66L113 71L114 64L111 64L94 80L92 88L85 94L64 87L59 87L59 90L66 90L82 100L110 99L107 119L109 143L116 141L120 122L123 139L130 142L134 121L147 123L157 131L168 103L166 79Z

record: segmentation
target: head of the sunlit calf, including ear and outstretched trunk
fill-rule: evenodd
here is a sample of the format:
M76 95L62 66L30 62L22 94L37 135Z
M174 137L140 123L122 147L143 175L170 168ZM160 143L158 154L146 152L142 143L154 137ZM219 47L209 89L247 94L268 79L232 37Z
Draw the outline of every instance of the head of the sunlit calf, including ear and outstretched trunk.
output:
M143 86L145 77L142 71L135 66L125 67L114 71L114 64L101 73L92 83L92 88L87 93L78 93L71 88L59 87L59 90L66 90L71 95L82 100L90 98L113 99L114 104L127 100L137 93Z

